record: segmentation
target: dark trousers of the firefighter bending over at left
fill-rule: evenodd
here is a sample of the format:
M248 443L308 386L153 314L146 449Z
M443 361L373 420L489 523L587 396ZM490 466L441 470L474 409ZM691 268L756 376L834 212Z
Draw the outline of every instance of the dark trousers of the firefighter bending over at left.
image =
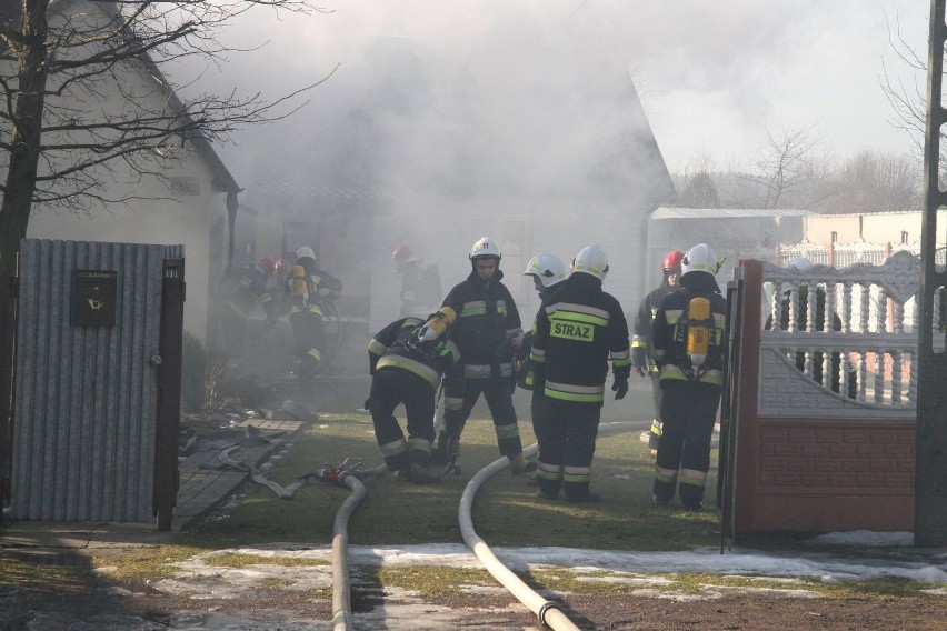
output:
M435 390L423 378L400 368L381 368L371 380L371 422L375 438L391 471L409 464L428 465L435 439ZM408 440L395 408L405 404L408 418Z

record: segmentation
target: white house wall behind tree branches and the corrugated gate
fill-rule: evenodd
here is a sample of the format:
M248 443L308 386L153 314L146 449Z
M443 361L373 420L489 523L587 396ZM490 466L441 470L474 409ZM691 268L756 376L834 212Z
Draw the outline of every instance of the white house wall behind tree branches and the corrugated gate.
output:
M69 20L71 24L107 21L103 16L104 3L72 0L57 3L50 12L50 23ZM61 13L59 12L61 11ZM83 54L94 50L94 43L88 44ZM60 51L66 54L66 51ZM68 106L87 112L87 120L102 120L108 116L134 116L138 104L151 110L173 112L173 100L169 98L168 87L160 74L146 63L119 66L116 68L121 89L103 76L96 91L83 91L73 86L64 97L50 97L51 107ZM51 78L50 89L56 78ZM133 99L123 96L133 94ZM44 134L48 146L56 146L57 138ZM81 142L82 132L73 130L70 142ZM90 142L96 142L89 138ZM168 142L161 154L173 160L148 164L149 169L161 172L168 182L148 174L133 172L123 161L113 160L108 169L99 168L96 177L102 183L102 190L92 191L109 200L127 200L111 204L106 210L89 213L72 213L62 210L39 209L30 218L27 236L40 239L63 239L78 241L113 241L128 243L183 244L186 262L186 282L188 286L185 303L185 328L200 339L205 339L208 329L208 298L213 290L211 278L217 278L223 261L220 244L211 260L211 226L226 216L225 193L215 192L210 160L195 148L192 142L179 139ZM157 156L157 154L156 154ZM210 157L213 158L213 157ZM71 166L74 156L48 153L41 160L51 161L54 169ZM41 167L42 168L42 167ZM0 173L2 174L2 173ZM229 177L229 176L228 176ZM69 189L59 187L57 192L69 193ZM226 232L216 238L225 238ZM211 274L211 268L215 273Z

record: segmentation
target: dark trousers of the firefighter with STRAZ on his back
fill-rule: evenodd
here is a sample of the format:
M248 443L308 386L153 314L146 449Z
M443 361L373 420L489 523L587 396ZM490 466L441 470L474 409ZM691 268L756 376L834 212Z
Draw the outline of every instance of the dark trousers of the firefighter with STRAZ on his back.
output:
M546 412L536 472L539 490L555 498L564 489L566 499L580 499L589 493L601 403L546 397Z

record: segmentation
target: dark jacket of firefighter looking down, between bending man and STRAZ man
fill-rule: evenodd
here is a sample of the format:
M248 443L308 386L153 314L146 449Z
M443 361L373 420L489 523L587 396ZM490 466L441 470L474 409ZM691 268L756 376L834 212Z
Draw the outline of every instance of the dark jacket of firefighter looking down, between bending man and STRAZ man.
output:
M509 340L522 333L519 310L497 270L489 281L477 271L453 287L443 300L457 312L451 339L463 354L463 374L472 379L510 377L512 347Z

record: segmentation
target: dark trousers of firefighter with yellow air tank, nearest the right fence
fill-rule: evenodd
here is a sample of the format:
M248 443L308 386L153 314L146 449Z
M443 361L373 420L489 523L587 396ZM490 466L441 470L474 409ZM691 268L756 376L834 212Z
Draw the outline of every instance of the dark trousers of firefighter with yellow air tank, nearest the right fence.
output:
M709 383L668 380L662 387L664 431L655 465L655 501L667 503L677 491L684 508L699 509L710 470L710 439L721 389Z

